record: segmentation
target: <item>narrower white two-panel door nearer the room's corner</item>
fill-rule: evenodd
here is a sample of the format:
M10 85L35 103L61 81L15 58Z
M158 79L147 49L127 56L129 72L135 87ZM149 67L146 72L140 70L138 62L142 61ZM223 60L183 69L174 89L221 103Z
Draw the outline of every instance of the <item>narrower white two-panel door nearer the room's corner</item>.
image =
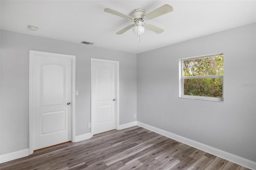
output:
M91 60L92 135L116 129L116 63Z

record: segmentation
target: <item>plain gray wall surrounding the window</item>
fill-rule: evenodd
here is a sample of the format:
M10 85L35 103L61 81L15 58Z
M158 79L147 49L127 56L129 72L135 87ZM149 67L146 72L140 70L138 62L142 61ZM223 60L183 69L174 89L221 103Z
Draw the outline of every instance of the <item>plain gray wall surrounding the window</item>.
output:
M168 38L168 37L166 37ZM256 161L256 24L137 55L137 121ZM182 99L179 59L224 54L224 102Z

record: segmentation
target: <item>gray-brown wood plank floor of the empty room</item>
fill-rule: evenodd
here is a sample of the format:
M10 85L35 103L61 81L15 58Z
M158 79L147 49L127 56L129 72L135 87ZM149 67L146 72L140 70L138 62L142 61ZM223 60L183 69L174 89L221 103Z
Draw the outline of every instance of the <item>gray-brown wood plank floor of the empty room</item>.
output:
M142 127L112 130L0 164L1 170L248 170Z

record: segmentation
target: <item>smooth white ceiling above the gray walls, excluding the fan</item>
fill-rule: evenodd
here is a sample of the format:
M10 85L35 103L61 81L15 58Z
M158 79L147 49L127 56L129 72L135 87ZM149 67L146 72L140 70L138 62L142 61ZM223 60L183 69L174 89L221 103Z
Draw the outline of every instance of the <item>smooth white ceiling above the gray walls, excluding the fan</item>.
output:
M115 33L132 21L104 12L111 8L126 15L142 8L151 12L164 4L173 12L148 20L164 29L162 34L145 30L137 36L132 29ZM1 29L34 36L141 53L192 38L256 22L256 0L1 0ZM38 27L31 31L28 25Z

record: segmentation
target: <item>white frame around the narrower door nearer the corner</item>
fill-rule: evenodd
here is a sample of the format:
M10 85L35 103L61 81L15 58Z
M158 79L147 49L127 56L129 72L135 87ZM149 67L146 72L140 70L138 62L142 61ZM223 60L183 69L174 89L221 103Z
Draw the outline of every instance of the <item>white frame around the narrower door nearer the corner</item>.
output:
M106 59L97 59L97 58L91 58L91 137L93 136L93 126L92 123L94 123L94 115L92 114L92 63L93 61L100 61L105 63L114 63L116 65L116 129L119 129L119 61L114 60L106 60Z

